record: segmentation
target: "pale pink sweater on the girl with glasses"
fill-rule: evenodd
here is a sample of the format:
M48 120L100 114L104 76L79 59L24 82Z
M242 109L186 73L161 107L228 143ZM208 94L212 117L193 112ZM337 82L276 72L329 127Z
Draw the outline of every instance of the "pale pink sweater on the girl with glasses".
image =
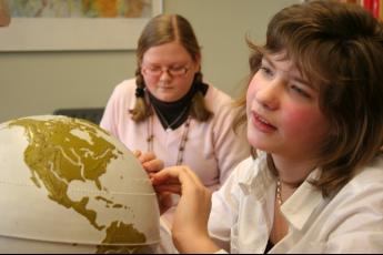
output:
M148 151L148 121L134 122L129 114L135 102L135 80L117 85L101 120L101 126L122 141L130 150ZM205 95L206 106L214 113L208 122L190 122L183 164L189 165L205 186L216 190L228 178L234 166L250 155L245 132L240 136L232 130L234 112L231 98L213 86ZM153 151L165 166L177 163L184 125L165 131L153 118Z

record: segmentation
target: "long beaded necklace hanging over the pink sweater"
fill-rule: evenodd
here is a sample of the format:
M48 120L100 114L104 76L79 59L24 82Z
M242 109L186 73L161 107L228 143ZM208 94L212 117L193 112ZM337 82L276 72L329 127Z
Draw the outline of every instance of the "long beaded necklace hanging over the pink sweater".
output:
M182 114L181 114L182 115ZM185 150L185 145L188 142L188 133L189 133L189 128L190 128L190 116L188 116L185 123L183 124L183 132L179 145L179 153L177 155L177 164L175 165L181 165L183 163L183 152ZM170 131L170 129L167 129L167 132ZM148 121L148 151L149 152L154 152L153 150L153 141L154 141L154 134L153 134L153 115L149 118Z

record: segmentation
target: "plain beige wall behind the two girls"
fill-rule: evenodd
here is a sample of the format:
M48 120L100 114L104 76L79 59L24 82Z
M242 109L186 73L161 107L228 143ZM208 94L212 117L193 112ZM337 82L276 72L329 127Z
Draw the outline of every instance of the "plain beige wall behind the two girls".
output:
M299 0L163 0L163 11L191 21L205 80L234 96L248 74L245 33L263 42L270 17L293 2ZM132 51L0 52L0 122L59 108L104 106L134 69Z

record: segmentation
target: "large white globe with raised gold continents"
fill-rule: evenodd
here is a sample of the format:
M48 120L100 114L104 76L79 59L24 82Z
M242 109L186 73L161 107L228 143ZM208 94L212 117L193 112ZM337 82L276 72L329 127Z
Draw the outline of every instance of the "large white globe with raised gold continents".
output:
M141 164L84 120L0 124L0 253L151 252L160 238Z

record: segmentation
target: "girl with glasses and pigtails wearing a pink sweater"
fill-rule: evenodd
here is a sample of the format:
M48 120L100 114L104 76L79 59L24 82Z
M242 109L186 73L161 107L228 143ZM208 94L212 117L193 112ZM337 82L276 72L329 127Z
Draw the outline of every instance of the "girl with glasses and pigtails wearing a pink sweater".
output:
M214 191L250 155L244 133L234 133L232 99L206 83L190 22L154 17L137 47L135 78L114 89L101 126L130 150L153 153L165 166L189 165ZM163 196L168 203L174 198ZM170 201L173 198L173 201ZM172 221L172 208L164 222Z

